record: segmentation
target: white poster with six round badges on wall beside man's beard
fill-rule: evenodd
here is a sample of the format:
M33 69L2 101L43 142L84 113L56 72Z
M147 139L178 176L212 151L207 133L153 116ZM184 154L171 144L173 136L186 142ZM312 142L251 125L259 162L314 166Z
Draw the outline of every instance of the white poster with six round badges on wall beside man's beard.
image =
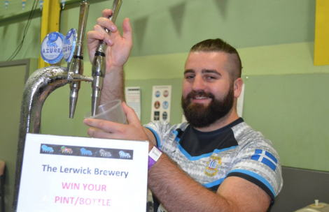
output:
M151 121L170 122L170 107L172 105L172 86L153 86L151 104Z

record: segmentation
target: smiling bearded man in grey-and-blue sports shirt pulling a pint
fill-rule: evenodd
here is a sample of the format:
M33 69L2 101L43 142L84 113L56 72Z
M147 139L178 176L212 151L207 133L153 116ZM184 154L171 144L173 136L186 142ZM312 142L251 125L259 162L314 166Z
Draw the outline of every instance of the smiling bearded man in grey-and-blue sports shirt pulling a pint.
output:
M111 13L104 10L87 33L91 61L98 40L110 46L103 102L123 100L123 65L132 48L130 21L124 20L120 36L106 18ZM158 146L163 152L148 169L155 211L267 211L282 188L281 164L272 143L237 114L242 84L237 50L221 39L204 40L186 60L181 105L187 123L158 121L143 127L125 103L128 125L97 119L84 123L92 127L92 137L148 140L149 151Z

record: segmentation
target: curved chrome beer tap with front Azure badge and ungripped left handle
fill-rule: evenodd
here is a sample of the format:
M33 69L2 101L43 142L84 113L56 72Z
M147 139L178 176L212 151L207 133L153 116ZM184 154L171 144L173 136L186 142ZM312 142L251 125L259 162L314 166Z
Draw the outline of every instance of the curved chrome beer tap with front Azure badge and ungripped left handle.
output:
M49 33L41 43L41 57L50 66L36 70L27 79L22 96L20 128L18 133L18 154L16 158L15 186L13 188L13 204L11 211L17 211L20 177L27 133L39 133L41 126L41 110L45 99L66 84L71 84L70 118L73 117L78 98L80 82L92 82L92 77L83 74L83 38L89 5L80 3L78 38L74 48L73 59L68 68L59 66L63 58L62 44L64 36L59 32ZM75 43L75 42L73 42ZM73 48L72 48L73 50ZM70 54L70 53L69 53ZM70 60L70 59L69 59ZM55 66L54 66L55 65ZM71 115L72 114L72 115Z

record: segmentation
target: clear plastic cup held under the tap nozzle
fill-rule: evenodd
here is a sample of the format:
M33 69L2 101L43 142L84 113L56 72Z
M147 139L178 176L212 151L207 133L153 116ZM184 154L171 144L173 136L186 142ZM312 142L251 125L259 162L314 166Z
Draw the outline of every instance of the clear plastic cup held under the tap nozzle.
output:
M121 100L112 100L98 107L97 114L92 116L92 112L85 114L85 119L102 119L106 121L113 121L116 123L127 124L127 116L123 112Z

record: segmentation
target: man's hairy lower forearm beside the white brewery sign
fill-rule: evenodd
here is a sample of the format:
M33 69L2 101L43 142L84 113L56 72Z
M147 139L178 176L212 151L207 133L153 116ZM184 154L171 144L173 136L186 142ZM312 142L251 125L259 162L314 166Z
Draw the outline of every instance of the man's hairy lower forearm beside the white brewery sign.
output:
M148 172L148 187L168 211L238 211L227 199L190 179L165 154Z

